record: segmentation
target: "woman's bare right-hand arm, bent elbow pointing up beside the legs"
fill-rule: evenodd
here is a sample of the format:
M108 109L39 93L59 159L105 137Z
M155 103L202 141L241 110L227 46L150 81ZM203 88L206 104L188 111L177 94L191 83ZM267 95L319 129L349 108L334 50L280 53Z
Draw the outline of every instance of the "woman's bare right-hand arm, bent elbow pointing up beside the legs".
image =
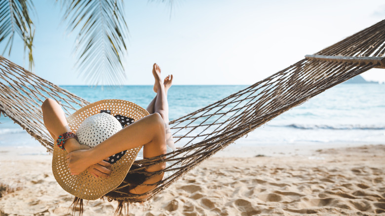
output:
M117 152L144 145L143 156L154 157L166 153L165 129L158 113L146 116L123 128L101 144L88 150L79 150L67 155L71 174L78 175L88 166ZM150 166L147 171L163 169L164 163Z

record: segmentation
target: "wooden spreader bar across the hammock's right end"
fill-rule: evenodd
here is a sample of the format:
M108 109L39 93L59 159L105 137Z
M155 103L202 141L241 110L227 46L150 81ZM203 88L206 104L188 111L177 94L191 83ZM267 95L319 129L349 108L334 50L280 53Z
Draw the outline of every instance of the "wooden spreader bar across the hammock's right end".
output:
M356 56L324 56L324 55L306 55L306 59L322 60L329 62L350 62L373 64L375 68L385 69L385 57L356 57Z

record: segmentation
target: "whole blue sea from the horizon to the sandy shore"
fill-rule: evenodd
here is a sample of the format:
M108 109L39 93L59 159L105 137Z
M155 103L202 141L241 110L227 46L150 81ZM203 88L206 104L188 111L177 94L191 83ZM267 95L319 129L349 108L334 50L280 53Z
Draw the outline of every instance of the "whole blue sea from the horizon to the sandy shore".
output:
M89 102L124 99L144 108L152 86L61 86ZM247 86L173 85L170 120L212 104ZM235 142L240 146L385 144L385 84L340 84L292 108ZM38 141L7 117L0 117L0 147L36 147Z

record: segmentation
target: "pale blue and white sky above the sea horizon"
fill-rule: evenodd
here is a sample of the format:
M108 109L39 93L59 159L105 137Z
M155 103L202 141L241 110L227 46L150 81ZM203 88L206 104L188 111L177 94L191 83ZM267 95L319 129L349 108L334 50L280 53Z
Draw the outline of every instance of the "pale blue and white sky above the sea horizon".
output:
M60 6L33 2L35 73L59 85L92 84L75 68L76 32L67 30ZM176 85L251 85L385 18L383 0L175 0L172 10L146 0L124 5L126 85L152 85L154 63ZM28 68L21 40L4 57ZM385 82L384 69L362 76Z

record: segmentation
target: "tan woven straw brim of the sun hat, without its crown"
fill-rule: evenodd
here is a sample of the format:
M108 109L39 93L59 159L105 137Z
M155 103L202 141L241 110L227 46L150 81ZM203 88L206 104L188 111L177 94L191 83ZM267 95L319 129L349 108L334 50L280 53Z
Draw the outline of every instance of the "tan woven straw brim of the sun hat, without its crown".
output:
M72 132L76 133L84 119L100 113L100 110L111 110L112 115L124 115L135 121L149 115L146 109L129 101L102 100L80 108L67 117ZM116 163L112 164L112 172L108 178L96 178L87 170L79 175L71 175L67 166L67 151L55 144L52 157L53 176L65 191L82 199L96 200L115 189L124 180L141 147L128 149Z

